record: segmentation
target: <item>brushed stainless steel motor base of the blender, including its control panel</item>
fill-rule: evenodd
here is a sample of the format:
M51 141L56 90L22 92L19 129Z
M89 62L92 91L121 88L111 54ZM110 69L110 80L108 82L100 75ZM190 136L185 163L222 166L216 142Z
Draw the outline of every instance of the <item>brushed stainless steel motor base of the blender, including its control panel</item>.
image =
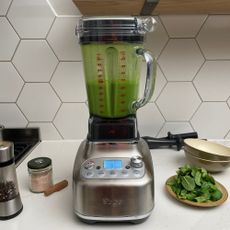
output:
M143 164L134 167L132 157ZM106 169L108 159L122 162L121 168ZM154 207L153 164L145 141L83 141L75 159L73 199L84 222L143 222Z

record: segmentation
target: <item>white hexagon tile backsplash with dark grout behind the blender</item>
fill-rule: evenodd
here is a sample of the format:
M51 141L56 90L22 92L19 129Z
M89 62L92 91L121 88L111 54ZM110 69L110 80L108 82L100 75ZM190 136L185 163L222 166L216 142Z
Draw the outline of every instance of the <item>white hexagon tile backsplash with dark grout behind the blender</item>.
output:
M40 127L44 140L86 137L80 17L72 0L0 1L0 124ZM230 139L230 15L155 18L145 47L157 59L157 80L137 112L140 134Z

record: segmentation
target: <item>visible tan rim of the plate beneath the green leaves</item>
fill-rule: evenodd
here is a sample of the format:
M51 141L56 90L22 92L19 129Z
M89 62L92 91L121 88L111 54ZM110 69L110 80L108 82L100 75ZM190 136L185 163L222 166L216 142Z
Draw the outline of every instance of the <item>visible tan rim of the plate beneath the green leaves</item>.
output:
M172 176L170 178L168 178L168 180L165 183L165 187L166 190L168 191L168 193L174 197L176 200L187 204L187 205L191 205L191 206L196 206L196 207L202 207L202 208L209 208L209 207L216 207L219 206L221 204L223 204L227 199L228 199L228 191L226 190L226 188L220 184L219 182L216 181L216 186L218 189L220 189L220 191L222 192L223 196L221 199L217 200L217 201L208 201L208 202L194 202L194 201L190 201L190 200L184 200L184 199L180 199L177 197L177 195L173 192L173 190L171 189L171 187L169 185L167 185L167 183L172 180L174 177L176 176Z

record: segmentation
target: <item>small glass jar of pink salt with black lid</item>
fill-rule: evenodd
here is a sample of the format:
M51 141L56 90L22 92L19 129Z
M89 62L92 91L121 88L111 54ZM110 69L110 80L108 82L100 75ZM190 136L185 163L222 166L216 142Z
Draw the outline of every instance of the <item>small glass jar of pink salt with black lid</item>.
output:
M52 160L50 158L34 158L27 163L27 167L31 192L44 192L53 185Z

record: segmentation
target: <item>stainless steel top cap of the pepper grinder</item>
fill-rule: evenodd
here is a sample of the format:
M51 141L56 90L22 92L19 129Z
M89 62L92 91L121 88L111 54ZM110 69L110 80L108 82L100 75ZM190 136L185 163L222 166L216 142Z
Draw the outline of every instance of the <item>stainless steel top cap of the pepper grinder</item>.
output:
M0 163L7 162L14 157L14 145L8 141L0 141Z

